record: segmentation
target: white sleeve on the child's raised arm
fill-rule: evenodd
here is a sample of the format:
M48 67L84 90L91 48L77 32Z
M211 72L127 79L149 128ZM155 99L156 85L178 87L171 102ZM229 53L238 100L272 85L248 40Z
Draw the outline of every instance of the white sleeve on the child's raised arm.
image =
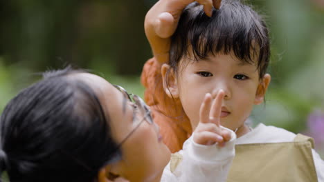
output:
M224 147L219 145L199 145L191 136L179 152L183 159L171 172L170 163L165 167L161 181L226 181L235 156L236 135L232 130L231 140ZM193 134L195 135L195 133Z

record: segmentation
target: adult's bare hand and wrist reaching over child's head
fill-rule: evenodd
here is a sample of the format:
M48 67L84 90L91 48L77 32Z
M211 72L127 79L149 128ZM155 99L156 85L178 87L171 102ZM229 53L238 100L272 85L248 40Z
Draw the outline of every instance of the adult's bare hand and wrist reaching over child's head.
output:
M219 8L222 0L198 0L204 5L207 16L211 16L213 7ZM154 57L160 62L168 61L170 37L177 28L180 15L193 0L160 0L146 14L145 34L150 42Z

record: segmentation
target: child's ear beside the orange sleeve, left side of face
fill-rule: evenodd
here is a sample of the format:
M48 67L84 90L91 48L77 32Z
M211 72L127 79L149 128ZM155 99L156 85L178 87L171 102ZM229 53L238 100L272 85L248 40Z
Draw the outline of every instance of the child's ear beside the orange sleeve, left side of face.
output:
M170 98L178 98L179 90L177 77L170 65L164 63L161 67L163 90Z

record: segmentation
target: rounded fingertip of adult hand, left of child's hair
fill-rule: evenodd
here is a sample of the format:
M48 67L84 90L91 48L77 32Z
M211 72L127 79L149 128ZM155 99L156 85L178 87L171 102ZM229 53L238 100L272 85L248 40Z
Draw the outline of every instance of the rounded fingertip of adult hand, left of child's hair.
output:
M154 23L154 30L159 37L168 38L174 32L173 23L174 18L172 17L172 14L170 14L169 12L162 12L161 14L159 14Z

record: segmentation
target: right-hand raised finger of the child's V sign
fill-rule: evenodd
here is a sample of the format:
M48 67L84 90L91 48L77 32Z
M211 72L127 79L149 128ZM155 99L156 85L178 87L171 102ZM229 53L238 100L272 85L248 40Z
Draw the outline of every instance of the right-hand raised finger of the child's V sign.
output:
M219 90L210 108L209 120L210 122L215 123L217 126L220 125L220 115L222 113L223 99L224 99L224 90Z

